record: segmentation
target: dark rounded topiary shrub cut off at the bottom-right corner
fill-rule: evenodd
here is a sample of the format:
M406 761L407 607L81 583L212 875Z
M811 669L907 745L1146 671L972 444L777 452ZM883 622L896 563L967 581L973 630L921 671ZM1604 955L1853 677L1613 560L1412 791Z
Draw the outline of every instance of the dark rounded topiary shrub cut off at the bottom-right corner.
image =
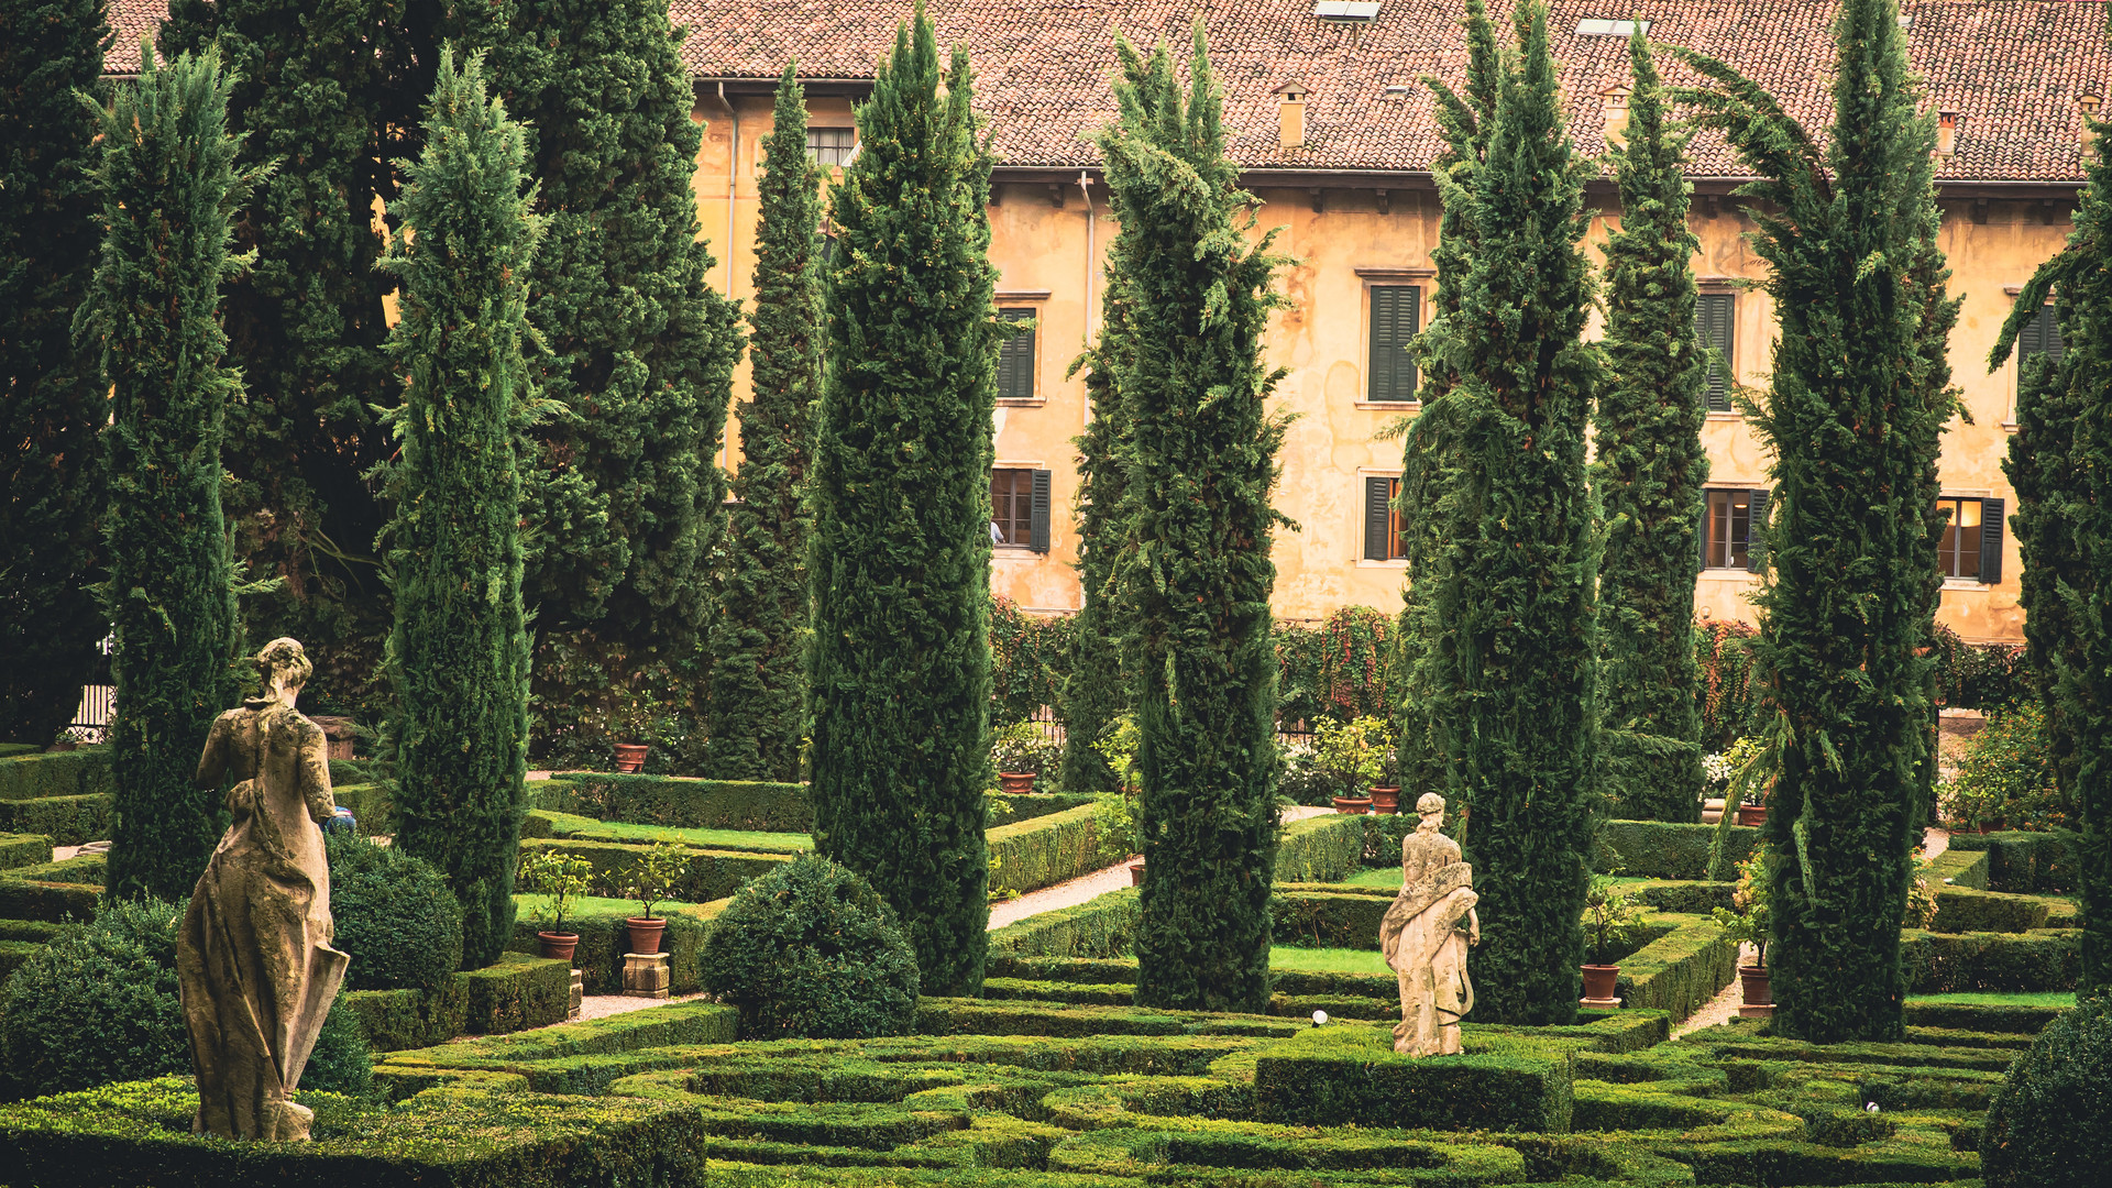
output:
M2061 1013L1987 1103L1987 1188L2095 1188L2112 1167L2112 994Z

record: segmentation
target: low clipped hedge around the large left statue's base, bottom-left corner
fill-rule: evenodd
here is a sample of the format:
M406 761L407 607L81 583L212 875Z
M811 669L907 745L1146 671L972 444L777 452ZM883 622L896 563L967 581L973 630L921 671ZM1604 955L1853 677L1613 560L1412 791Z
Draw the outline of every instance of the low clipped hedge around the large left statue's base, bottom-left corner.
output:
M644 1097L427 1093L378 1106L302 1093L315 1141L232 1144L190 1133L199 1093L165 1076L0 1106L15 1184L42 1188L572 1188L703 1184L693 1106Z

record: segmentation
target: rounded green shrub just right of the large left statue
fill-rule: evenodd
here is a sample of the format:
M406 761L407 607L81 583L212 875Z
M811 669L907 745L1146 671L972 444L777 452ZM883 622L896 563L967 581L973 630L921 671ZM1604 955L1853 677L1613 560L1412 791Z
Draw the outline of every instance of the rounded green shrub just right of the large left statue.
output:
M329 837L329 915L351 953L344 989L435 989L463 966L463 905L425 858Z

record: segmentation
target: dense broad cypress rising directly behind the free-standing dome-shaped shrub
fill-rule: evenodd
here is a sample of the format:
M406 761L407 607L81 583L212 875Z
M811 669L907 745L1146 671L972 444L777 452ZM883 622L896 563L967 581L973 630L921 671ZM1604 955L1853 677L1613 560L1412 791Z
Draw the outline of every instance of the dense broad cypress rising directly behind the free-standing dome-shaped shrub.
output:
M982 985L988 852L991 163L967 51L919 4L830 192L828 374L813 454L815 850L902 915L929 994Z

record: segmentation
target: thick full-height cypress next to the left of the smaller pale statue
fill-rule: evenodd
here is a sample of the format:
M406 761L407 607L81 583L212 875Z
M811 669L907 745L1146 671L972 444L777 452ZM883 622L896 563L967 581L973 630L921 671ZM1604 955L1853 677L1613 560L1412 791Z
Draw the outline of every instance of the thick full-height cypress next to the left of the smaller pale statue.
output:
M1162 44L1117 34L1119 120L1098 133L1126 285L1115 391L1126 431L1119 560L1136 681L1145 837L1136 1002L1261 1010L1276 860L1269 505L1282 372L1263 359L1280 258L1248 243L1255 197L1225 154L1223 93L1195 23L1183 95Z

